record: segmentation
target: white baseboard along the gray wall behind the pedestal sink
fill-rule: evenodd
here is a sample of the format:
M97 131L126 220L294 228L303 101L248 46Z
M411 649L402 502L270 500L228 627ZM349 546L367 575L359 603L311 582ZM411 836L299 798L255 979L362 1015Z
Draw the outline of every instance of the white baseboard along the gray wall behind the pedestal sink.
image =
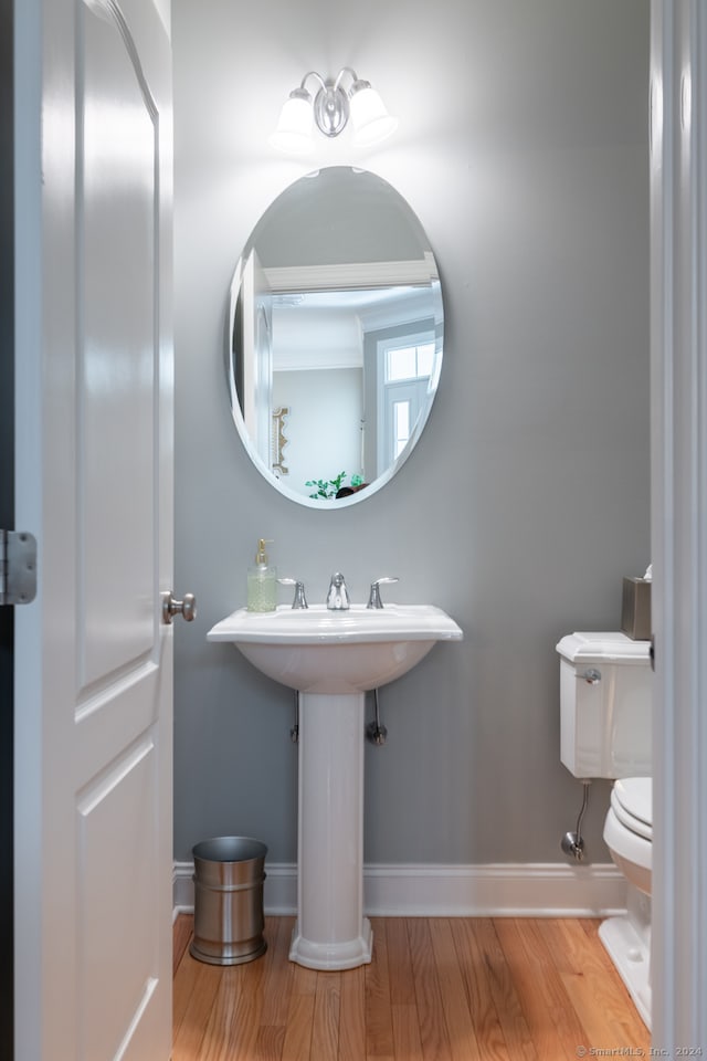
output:
M295 914L297 866L266 863L266 914ZM175 914L193 911L193 864L176 862ZM626 908L613 862L363 866L365 911L386 917L609 917Z

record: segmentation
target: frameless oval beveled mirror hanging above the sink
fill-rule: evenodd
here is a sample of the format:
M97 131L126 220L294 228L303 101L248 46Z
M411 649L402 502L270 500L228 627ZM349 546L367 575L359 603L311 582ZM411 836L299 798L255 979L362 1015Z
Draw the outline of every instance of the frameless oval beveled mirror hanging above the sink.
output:
M231 285L233 418L287 497L354 504L407 460L442 366L430 242L373 174L334 166L265 211Z

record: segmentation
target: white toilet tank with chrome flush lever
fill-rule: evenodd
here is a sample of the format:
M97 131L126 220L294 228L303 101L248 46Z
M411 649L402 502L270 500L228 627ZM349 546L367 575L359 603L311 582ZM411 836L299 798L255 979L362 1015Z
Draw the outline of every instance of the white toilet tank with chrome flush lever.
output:
M560 654L560 758L576 777L653 773L650 641L571 633Z

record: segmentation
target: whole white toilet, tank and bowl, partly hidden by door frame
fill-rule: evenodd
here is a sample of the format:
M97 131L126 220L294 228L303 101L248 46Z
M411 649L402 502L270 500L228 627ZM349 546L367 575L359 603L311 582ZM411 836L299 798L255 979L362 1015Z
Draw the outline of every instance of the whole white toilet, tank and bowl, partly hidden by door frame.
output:
M578 778L614 778L604 841L626 878L626 913L599 935L651 1027L652 671L650 642L572 633L560 654L560 758Z

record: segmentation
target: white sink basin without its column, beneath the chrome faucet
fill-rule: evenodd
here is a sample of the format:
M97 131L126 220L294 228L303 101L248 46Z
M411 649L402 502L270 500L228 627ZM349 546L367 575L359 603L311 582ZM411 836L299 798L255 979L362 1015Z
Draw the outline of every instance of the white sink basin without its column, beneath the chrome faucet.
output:
M400 677L436 641L462 631L433 605L386 605L329 611L240 608L218 622L209 641L230 641L268 677L302 693L360 693Z

